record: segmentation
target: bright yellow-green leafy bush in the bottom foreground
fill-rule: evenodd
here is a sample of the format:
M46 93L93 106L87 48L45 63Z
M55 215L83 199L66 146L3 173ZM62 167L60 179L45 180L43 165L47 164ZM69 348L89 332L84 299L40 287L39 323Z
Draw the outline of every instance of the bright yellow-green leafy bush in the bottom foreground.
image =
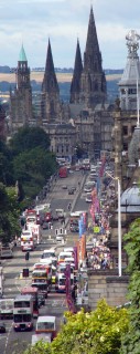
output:
M119 354L121 335L127 332L129 319L126 309L108 306L105 300L90 313L65 314L66 324L49 345L29 347L24 354ZM34 351L33 351L34 350Z

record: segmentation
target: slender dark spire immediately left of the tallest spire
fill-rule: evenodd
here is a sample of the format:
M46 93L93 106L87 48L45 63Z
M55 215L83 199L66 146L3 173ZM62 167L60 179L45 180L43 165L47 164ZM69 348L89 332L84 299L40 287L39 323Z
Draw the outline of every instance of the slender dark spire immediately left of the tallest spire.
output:
M71 103L79 102L82 71L83 71L83 62L82 62L79 41L77 40L74 74L73 74L72 84L71 84Z

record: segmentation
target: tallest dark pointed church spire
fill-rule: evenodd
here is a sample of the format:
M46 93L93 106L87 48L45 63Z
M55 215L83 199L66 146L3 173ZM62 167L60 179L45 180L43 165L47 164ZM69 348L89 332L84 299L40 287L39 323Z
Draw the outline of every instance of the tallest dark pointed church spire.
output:
M94 108L98 103L105 103L106 95L106 77L91 7L80 79L80 101Z

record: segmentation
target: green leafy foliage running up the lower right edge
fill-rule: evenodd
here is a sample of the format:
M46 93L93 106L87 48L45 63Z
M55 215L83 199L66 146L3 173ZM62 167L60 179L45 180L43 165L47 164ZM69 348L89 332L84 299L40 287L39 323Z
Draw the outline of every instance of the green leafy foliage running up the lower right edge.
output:
M128 254L130 274L128 298L131 301L129 309L130 327L123 336L121 353L140 353L140 219L130 226L130 230L125 235L126 251Z

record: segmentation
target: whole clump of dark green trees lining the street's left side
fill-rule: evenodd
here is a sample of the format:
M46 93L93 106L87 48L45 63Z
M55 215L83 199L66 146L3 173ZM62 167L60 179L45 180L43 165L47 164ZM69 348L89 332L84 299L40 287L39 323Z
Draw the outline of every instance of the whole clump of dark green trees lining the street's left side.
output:
M9 145L0 140L0 239L20 231L19 216L56 171L50 138L37 127L23 127ZM17 186L17 187L15 187Z

